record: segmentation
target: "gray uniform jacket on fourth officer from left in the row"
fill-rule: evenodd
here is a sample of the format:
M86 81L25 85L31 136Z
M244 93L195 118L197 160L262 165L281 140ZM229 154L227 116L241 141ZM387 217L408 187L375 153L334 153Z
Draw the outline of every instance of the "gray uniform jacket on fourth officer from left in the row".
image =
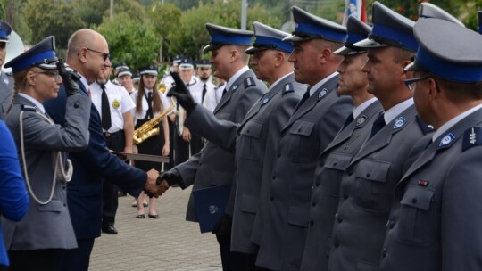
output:
M337 212L343 172L370 136L373 121L383 111L375 101L342 129L323 151L312 189L310 227L303 252L302 270L327 270L329 236ZM353 118L352 118L353 119Z

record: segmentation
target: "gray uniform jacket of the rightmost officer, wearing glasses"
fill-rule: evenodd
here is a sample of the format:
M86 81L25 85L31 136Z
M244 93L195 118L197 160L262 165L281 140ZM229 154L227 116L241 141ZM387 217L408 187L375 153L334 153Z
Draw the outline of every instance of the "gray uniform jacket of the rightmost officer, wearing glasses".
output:
M482 269L481 126L481 109L461 119L396 185L380 270Z

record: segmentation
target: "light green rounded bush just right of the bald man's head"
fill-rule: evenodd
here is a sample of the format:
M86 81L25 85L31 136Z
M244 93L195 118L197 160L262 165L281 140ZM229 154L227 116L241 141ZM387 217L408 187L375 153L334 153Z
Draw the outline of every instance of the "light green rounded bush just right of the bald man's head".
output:
M126 62L132 70L155 62L161 46L151 24L123 12L104 21L96 31L107 39L112 62Z

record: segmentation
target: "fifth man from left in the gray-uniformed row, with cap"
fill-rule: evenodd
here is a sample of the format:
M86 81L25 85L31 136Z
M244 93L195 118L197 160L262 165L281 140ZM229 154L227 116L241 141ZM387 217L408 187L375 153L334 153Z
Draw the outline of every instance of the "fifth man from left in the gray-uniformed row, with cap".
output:
M411 147L428 127L417 119L403 68L417 51L414 22L375 2L369 38L354 46L368 49L362 70L368 91L385 110L375 120L369 139L346 167L333 226L330 270L378 270L386 221L395 184L403 174Z

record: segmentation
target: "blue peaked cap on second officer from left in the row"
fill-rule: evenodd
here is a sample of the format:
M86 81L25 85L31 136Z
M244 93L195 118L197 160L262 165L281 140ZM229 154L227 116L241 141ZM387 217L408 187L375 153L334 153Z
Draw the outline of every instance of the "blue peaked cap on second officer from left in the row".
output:
M289 36L288 33L273 29L261 22L254 21L254 40L253 46L246 49L246 53L253 54L256 51L275 49L286 53L293 51L293 45L290 42L283 41L283 38Z

